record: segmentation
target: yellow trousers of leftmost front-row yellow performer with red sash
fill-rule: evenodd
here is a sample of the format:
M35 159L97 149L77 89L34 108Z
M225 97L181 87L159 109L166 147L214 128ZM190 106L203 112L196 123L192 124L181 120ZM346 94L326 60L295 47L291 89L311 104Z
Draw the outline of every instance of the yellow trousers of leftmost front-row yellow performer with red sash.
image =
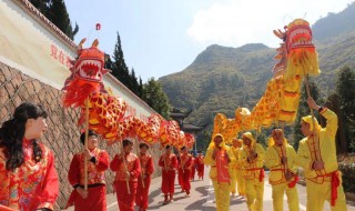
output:
M230 210L230 183L212 180L217 211Z

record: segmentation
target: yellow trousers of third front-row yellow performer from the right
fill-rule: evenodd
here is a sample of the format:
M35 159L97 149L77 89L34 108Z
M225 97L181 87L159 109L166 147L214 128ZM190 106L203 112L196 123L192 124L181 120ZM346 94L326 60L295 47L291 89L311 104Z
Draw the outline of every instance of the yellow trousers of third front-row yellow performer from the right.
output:
M264 180L245 180L246 205L250 211L263 211Z

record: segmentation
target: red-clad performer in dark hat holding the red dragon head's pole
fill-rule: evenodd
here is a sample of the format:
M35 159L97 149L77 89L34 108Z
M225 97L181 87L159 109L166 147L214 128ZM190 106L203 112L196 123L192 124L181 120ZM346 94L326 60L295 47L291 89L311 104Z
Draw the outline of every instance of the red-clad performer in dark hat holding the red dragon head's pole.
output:
M80 141L84 144L85 132ZM84 159L88 159L88 190L84 190ZM88 148L74 154L69 172L69 183L74 188L67 208L74 205L75 210L106 210L106 188L104 172L109 168L109 154L98 148L98 134L89 130Z

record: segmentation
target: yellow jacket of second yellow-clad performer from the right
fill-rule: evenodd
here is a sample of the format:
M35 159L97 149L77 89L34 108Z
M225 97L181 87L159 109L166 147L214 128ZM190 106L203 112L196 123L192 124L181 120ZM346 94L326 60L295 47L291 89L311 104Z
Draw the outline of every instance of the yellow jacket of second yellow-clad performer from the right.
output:
M272 145L266 149L265 165L270 169L268 181L271 184L281 184L287 182L285 178L285 168L281 163L282 149L280 145ZM288 170L293 173L297 172L297 165L295 164L296 151L292 145L286 144L286 154Z

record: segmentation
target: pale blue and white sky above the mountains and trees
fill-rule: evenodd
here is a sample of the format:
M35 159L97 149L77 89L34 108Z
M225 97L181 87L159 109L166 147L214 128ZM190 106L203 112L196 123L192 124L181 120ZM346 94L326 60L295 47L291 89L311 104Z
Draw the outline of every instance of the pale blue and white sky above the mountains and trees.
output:
M120 33L125 63L143 82L180 72L211 44L277 47L272 33L295 18L313 24L354 0L64 0L80 30L75 42L99 38L113 53ZM84 3L87 2L87 3ZM97 23L101 30L95 30ZM87 47L89 44L87 43Z

